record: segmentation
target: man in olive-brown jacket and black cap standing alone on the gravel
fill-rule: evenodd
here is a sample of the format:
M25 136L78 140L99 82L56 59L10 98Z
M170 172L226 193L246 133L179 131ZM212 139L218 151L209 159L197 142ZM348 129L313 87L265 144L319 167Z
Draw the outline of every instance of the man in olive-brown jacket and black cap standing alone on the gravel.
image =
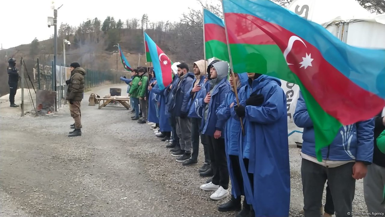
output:
M66 100L70 103L71 117L75 120L75 125L71 126L74 131L70 132L68 137L82 136L81 112L80 105L84 93L84 75L85 70L80 68L79 63L71 63L71 78L65 83L68 85Z

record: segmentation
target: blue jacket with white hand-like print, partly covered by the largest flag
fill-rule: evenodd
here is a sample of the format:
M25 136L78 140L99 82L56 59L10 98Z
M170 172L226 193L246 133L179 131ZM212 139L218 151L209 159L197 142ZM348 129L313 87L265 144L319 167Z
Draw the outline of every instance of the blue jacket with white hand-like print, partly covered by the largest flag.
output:
M316 157L313 121L310 119L302 93L298 98L293 119L298 127L303 127L302 153ZM333 161L356 160L372 163L373 138L374 119L343 126L330 146L321 149L322 159Z

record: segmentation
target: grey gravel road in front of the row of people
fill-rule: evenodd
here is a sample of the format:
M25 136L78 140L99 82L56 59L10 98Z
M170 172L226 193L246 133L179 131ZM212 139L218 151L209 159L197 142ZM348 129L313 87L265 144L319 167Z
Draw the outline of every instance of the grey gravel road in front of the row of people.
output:
M110 87L93 93L105 95ZM73 123L67 107L50 117L18 117L20 110L0 105L1 217L226 217L210 193L199 190L203 163L185 167L175 161L149 125L131 121L124 107L82 102L82 137L68 138ZM301 216L300 149L290 148L291 214ZM279 201L277 201L277 206ZM362 180L354 210L366 210Z

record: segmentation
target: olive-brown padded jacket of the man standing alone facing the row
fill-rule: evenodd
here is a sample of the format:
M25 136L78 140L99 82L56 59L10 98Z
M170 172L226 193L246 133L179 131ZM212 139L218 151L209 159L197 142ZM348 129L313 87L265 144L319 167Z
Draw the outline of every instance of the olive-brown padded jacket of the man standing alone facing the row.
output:
M85 70L83 68L78 67L72 70L66 100L82 101L85 87L84 75Z

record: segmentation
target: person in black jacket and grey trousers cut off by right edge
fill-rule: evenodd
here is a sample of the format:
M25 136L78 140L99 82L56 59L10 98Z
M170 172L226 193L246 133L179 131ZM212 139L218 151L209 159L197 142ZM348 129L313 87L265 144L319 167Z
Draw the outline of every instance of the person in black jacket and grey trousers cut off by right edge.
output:
M385 185L385 154L377 146L377 137L385 130L385 109L378 114L374 126L373 163L368 166L368 172L363 180L363 193L368 212L385 212L383 202L383 188ZM369 215L374 216L374 215Z

